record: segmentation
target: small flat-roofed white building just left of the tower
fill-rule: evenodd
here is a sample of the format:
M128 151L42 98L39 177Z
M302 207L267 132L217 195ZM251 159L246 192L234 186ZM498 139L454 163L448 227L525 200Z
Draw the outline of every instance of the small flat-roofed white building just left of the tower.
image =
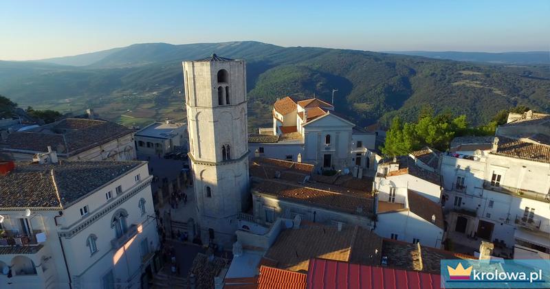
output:
M135 132L135 148L141 154L164 155L177 147L188 150L187 124L154 122Z

